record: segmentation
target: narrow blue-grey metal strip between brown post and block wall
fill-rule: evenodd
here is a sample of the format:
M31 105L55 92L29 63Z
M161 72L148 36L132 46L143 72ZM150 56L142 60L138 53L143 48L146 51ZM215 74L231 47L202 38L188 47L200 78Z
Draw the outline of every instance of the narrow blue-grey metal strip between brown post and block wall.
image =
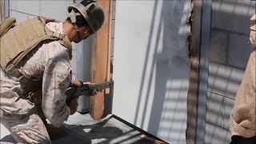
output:
M206 128L206 102L208 94L209 51L212 0L202 1L202 27L200 50L200 73L198 91L198 117L196 143L204 143Z

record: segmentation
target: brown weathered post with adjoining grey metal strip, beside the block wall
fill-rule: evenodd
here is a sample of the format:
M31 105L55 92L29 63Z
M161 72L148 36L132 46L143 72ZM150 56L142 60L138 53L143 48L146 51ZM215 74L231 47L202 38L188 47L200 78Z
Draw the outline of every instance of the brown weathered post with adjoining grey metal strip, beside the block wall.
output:
M193 0L186 143L204 143L212 0Z

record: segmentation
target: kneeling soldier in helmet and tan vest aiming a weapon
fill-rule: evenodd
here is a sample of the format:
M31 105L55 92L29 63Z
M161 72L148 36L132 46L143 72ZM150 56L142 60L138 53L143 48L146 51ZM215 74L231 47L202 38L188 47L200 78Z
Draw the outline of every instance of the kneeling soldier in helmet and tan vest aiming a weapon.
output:
M104 13L94 0L76 2L68 12L65 22L33 18L16 26L6 20L1 28L0 116L17 142L51 143L47 123L62 126L77 110L77 99L66 102L65 94L81 84L71 75L70 42L99 30Z

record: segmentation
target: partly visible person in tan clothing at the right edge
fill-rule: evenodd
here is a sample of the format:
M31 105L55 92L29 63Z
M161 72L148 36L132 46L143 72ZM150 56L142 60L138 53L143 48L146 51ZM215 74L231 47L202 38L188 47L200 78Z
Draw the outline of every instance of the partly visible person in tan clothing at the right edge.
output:
M253 51L230 115L230 132L233 135L230 144L256 143L256 14L250 20L253 22L250 27L250 44Z

